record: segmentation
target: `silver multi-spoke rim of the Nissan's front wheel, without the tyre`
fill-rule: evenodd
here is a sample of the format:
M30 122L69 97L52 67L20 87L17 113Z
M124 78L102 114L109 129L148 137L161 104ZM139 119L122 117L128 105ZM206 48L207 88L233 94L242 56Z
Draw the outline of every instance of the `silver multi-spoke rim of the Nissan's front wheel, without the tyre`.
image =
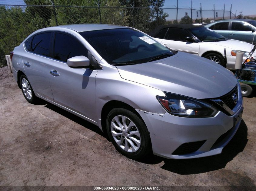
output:
M116 144L127 152L136 152L141 145L141 135L131 119L115 116L110 124L111 134Z

